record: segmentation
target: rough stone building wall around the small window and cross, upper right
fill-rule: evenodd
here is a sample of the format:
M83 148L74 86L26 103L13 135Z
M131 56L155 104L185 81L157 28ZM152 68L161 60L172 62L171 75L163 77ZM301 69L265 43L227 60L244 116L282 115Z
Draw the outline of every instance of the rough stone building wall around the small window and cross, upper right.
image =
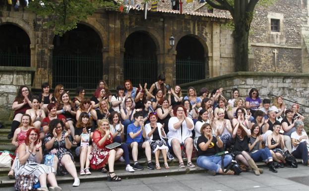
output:
M302 0L277 0L268 7L257 6L249 36L253 71L303 72L301 26L307 23L307 17ZM280 20L279 32L271 31L271 19Z

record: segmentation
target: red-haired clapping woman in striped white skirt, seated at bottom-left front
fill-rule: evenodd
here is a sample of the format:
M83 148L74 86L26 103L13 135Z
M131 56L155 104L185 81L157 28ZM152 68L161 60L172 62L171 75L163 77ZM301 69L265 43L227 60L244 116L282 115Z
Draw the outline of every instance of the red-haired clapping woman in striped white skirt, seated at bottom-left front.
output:
M39 131L32 127L27 131L25 142L19 146L16 156L15 177L19 175L34 175L34 182L40 181L38 191L61 191L55 177L55 169L51 166L40 164L43 160L42 141ZM51 187L48 189L46 178Z

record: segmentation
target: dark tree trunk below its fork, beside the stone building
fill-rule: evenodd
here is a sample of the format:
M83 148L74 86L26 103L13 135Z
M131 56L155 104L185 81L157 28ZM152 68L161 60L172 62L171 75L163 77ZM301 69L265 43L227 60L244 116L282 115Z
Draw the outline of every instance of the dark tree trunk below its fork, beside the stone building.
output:
M247 29L246 22L234 22L234 24L235 71L248 71L249 29Z

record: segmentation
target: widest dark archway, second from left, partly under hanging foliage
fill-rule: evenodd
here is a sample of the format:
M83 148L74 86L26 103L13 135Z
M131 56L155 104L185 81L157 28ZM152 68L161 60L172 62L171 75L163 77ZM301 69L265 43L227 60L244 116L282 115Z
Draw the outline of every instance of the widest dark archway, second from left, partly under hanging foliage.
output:
M53 44L53 87L61 83L65 88L95 89L103 76L102 41L96 31L78 24L55 36Z

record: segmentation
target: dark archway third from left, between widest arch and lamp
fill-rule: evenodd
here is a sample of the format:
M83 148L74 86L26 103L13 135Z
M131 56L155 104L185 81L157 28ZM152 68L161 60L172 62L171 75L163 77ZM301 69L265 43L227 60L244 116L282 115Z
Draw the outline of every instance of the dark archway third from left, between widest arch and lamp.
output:
M157 79L156 44L145 32L130 34L124 43L124 79L135 87L139 83L151 84Z

